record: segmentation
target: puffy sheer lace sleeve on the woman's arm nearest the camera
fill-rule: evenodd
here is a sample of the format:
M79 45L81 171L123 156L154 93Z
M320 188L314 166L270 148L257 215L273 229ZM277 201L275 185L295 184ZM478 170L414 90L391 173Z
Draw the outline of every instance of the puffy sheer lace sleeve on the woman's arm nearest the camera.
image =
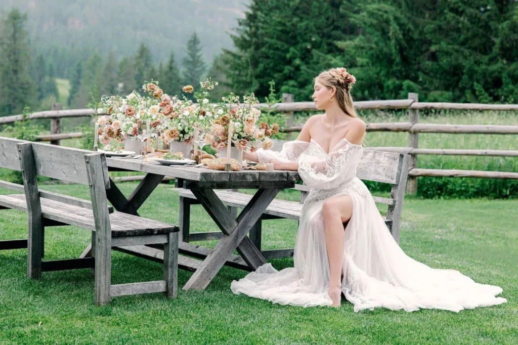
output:
M301 154L298 160L298 173L310 188L336 188L343 182L354 179L362 154L361 145L342 139L325 158L320 155Z

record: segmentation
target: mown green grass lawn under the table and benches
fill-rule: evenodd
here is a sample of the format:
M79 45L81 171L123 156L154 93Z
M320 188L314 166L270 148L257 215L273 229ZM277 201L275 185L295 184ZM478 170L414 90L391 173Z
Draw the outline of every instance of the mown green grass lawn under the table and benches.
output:
M126 195L135 183L121 183ZM43 189L87 197L77 185ZM160 185L141 215L178 222L178 196ZM3 191L5 192L5 191ZM282 197L296 199L296 193ZM401 247L435 268L457 269L480 283L499 285L507 304L463 310L407 313L375 309L355 313L348 301L339 309L274 305L234 295L232 280L246 275L224 267L203 292L184 292L192 275L180 270L178 299L161 294L114 298L93 305L89 269L44 272L25 277L26 250L0 252L0 343L516 343L518 334L518 200L427 200L407 197L402 213ZM217 231L194 206L192 231ZM265 249L293 246L297 223L263 222ZM23 238L26 214L0 211L0 239ZM75 227L46 232L47 260L77 257L89 232ZM213 245L214 243L210 243ZM272 260L282 269L293 260ZM162 266L113 252L112 283L162 279Z

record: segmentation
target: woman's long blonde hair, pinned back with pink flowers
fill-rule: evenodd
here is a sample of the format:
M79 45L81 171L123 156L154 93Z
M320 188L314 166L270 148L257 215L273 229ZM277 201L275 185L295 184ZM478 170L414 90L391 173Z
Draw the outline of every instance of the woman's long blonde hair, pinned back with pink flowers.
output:
M340 109L350 117L357 118L358 114L354 110L353 98L351 97L352 84L356 79L344 78L345 68L332 68L322 71L314 80L319 81L326 88L336 88L336 100ZM351 76L352 77L352 76ZM354 78L354 77L352 77Z

